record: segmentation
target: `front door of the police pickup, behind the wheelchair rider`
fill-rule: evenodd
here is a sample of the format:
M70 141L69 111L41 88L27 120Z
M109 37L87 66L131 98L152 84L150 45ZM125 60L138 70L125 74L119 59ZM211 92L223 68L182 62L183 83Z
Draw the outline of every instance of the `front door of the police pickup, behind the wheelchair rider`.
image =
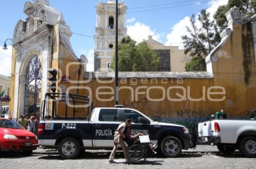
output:
M134 111L125 109L124 110L124 119L131 119L132 125L131 125L131 132L133 134L143 133L144 135L149 135L150 141L155 143L157 141L157 138L155 137L155 133L157 132L157 127L155 125L151 125L150 121L148 120L148 124L142 124L139 123L139 118L145 118L142 114Z

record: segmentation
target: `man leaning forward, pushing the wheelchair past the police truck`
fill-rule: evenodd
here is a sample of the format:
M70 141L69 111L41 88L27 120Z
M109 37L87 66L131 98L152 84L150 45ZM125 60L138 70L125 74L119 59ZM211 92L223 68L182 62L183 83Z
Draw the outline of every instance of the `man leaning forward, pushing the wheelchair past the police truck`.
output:
M113 148L113 150L109 156L109 159L108 159L109 163L114 162L114 158L115 158L118 147L122 147L125 161L129 162L128 155L127 155L127 147L126 147L125 143L123 142L123 139L125 138L125 135L123 134L123 132L124 132L125 127L130 127L131 124L132 124L132 120L127 119L127 120L125 120L125 122L121 123L117 127L117 131L114 134L114 148Z

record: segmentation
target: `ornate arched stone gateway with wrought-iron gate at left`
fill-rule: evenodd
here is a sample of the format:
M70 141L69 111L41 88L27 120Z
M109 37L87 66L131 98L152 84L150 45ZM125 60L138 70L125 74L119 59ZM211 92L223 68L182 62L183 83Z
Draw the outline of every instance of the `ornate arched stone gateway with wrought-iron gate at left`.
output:
M77 80L87 61L73 52L70 27L48 0L27 1L23 11L27 18L18 21L13 34L10 110L14 120L20 114L39 116L45 93L51 91L48 70L56 69L58 79ZM60 80L57 92L65 92L68 85Z

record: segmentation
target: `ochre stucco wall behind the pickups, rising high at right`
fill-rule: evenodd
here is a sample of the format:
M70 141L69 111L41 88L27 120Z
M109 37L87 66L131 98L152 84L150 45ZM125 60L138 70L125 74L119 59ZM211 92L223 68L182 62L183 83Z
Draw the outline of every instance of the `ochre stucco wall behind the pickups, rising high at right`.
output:
M172 89L167 92L168 87L178 86L186 89L186 100L183 101L170 101L167 97L163 101L154 102L147 99L146 94L140 94L137 100L131 101L130 90L119 91L119 104L129 108L136 108L139 111L149 115L150 117L184 117L184 118L196 118L208 117L220 109L224 109L229 117L247 117L248 112L256 107L256 76L255 76L255 63L254 63L254 48L253 41L251 40L252 34L250 25L233 25L233 33L216 53L218 58L217 62L212 63L213 78L212 79L194 79L183 78L182 83L178 82L177 78L168 78L167 83L162 83L161 79L158 79L158 83L155 80L151 82L151 78L142 80L137 78L137 83L131 82L131 79L127 79L126 83L121 83L119 80L119 87L129 86L135 91L136 88L146 86L146 89L139 89L139 92L146 92L148 87L160 86L165 90L165 95L170 94L170 98L180 98L176 95L179 93L183 95L181 89ZM248 43L247 43L248 42ZM245 44L249 44L246 46ZM104 79L100 79L104 80ZM143 81L143 82L142 82ZM165 82L165 80L164 80ZM97 99L96 90L101 86L113 87L114 82L108 84L102 84L92 79L88 84L83 86L90 87L92 89L92 102L93 107L113 107L114 100L103 102ZM211 89L215 86L219 89ZM190 91L189 91L190 87ZM222 89L220 88L222 87ZM100 92L111 92L110 89L101 89ZM199 99L203 96L205 91L205 101L191 101L191 98ZM225 94L213 95L210 92L224 92ZM87 90L82 90L82 94L88 95ZM135 92L134 92L135 93ZM99 95L101 99L109 99L113 97L113 93L110 95ZM162 90L151 89L149 96L153 99L161 98L163 96ZM223 101L212 101L212 99L223 99ZM134 96L134 98L136 98Z

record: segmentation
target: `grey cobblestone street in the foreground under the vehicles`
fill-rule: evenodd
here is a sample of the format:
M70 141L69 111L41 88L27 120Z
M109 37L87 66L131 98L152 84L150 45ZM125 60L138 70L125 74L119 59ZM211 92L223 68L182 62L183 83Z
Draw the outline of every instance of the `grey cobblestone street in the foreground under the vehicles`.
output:
M199 152L200 151L200 152ZM256 159L243 157L239 152L232 155L218 153L216 146L198 146L195 150L183 151L179 158L149 156L142 165L125 164L121 152L117 153L116 163L109 164L110 151L86 151L77 159L63 160L57 152L38 149L32 156L21 153L1 153L0 166L8 168L255 168Z

